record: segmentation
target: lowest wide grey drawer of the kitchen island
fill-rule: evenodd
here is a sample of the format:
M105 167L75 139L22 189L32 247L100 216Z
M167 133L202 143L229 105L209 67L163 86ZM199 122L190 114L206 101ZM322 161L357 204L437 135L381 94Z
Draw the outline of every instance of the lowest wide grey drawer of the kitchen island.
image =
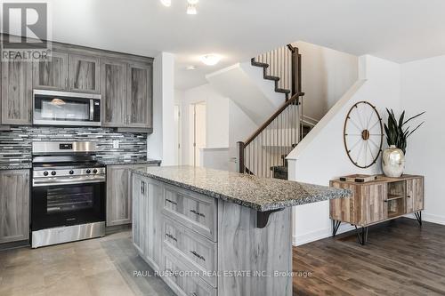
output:
M171 252L164 252L166 283L180 296L216 296L217 290L200 278L195 272Z

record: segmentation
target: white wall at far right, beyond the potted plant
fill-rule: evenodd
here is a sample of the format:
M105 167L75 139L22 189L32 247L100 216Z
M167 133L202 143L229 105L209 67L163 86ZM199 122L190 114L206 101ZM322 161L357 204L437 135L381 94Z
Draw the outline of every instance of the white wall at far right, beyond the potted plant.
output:
M425 124L409 138L406 170L425 175L424 220L445 224L445 55L401 66L401 104L408 116L426 111ZM416 126L415 124L411 126Z

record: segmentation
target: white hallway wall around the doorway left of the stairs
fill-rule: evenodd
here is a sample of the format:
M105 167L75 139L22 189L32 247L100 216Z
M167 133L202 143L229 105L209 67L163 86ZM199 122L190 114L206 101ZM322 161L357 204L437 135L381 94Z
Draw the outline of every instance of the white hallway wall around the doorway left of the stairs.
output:
M190 159L190 104L206 102L206 148L229 147L229 99L209 84L183 92L182 96L182 164L193 164Z

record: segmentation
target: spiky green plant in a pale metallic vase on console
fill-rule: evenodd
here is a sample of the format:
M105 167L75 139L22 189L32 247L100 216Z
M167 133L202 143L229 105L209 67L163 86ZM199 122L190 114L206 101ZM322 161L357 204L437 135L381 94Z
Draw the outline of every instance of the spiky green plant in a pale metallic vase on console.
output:
M425 122L418 124L413 130L410 130L410 127L406 124L418 116L422 116L425 112L412 116L407 120L405 120L405 111L401 113L399 120L394 116L392 109L386 108L386 112L388 112L388 124L384 124L384 132L386 132L386 141L389 148L384 149L382 169L387 177L399 178L405 169L407 139Z

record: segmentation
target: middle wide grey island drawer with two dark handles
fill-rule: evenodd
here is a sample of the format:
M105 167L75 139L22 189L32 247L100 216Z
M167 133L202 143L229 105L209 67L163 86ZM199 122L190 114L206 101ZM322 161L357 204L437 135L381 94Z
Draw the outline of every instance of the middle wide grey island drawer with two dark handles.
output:
M208 284L216 287L216 277L209 276L217 269L216 243L167 217L163 217L163 226L166 248L183 257L192 270L197 271Z

